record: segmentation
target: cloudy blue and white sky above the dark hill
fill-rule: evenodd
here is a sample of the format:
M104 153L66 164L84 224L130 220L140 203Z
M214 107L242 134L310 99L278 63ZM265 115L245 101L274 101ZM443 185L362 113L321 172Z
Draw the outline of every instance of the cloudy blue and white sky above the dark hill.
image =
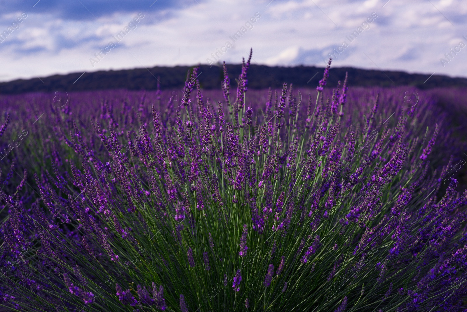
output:
M467 1L0 0L0 81L240 63L250 47L254 64L334 53L335 66L467 77Z

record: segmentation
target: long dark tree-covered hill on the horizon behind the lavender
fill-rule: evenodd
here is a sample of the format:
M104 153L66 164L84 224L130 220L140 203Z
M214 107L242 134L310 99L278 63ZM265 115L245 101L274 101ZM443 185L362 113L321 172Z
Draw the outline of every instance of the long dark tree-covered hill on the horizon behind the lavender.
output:
M160 83L162 89L182 88L190 66L136 68L119 71L95 71L53 75L44 78L17 79L0 83L0 94L25 92L88 91L106 89L156 90ZM236 86L235 78L241 72L241 64L228 64L227 70L231 83ZM248 87L252 89L280 88L283 82L293 83L296 87L316 87L322 78L324 68L315 66L266 66L251 64L248 70ZM451 78L442 75L409 74L403 71L364 70L353 67L331 68L328 85L335 86L343 80L348 71L349 86L398 86L410 85L420 89L434 87L467 87L467 78ZM223 79L222 66L200 65L198 79L204 89L219 89ZM78 79L79 78L79 79ZM77 80L78 79L78 80Z

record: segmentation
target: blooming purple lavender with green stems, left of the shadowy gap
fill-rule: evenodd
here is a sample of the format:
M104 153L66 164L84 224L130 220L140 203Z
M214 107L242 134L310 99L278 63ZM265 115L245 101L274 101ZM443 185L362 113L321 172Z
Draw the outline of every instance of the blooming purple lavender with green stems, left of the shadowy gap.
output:
M465 162L429 93L326 71L246 97L248 65L234 94L194 69L180 93L2 98L0 306L465 311Z

